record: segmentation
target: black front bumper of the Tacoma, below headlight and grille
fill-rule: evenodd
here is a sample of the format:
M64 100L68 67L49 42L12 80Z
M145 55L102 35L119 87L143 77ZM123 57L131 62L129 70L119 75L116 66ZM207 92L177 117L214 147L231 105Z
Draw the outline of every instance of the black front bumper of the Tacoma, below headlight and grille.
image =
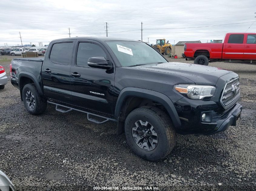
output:
M191 100L186 97L174 103L181 120L181 127L176 128L180 134L212 135L235 126L241 118L242 106L235 103L224 110L218 103L208 100ZM202 120L202 114L206 118Z

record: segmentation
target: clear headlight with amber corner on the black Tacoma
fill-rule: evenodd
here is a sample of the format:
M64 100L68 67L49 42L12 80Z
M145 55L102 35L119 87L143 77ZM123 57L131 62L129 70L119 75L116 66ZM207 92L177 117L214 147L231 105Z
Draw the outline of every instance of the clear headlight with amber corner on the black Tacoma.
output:
M204 99L204 97L211 97L214 95L216 90L214 86L193 84L178 84L174 86L174 89L194 100L201 100Z

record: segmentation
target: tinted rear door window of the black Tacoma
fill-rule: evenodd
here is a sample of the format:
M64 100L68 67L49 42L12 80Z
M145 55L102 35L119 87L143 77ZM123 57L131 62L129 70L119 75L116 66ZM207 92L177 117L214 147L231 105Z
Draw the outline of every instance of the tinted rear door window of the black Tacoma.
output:
M53 44L50 53L50 60L57 64L68 65L71 62L72 46L72 42Z

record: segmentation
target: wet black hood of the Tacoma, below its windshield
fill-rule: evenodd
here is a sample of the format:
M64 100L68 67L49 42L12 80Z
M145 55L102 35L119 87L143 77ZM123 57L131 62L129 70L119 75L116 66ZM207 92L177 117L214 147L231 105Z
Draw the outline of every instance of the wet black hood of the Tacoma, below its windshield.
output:
M180 75L188 78L195 84L207 85L215 85L221 76L232 72L222 68L181 62L166 62L153 65L142 65L136 66L136 68Z

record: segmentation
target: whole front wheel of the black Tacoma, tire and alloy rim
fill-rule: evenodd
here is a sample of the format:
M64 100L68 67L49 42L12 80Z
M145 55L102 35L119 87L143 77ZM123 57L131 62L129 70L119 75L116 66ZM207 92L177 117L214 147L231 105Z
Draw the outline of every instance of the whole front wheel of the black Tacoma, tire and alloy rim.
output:
M176 142L170 117L157 107L140 107L129 113L125 136L132 151L149 161L165 158Z

